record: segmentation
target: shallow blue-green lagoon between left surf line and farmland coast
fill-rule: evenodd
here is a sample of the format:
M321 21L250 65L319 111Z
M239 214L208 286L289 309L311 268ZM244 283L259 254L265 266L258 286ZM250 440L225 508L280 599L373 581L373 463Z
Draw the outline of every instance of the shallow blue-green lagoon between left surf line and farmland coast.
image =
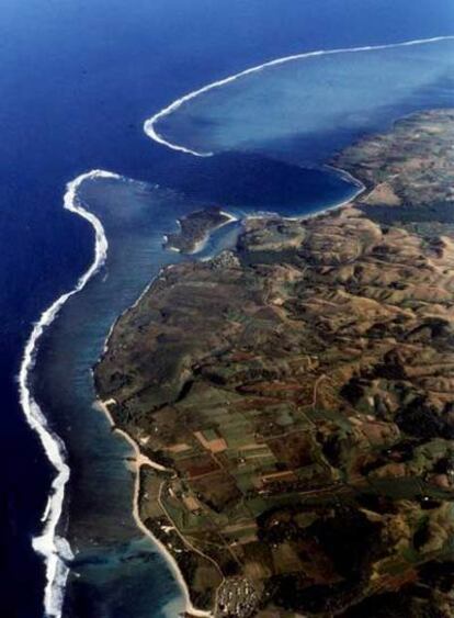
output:
M149 616L160 598L154 615L161 616L178 589L130 515L130 448L93 408L91 368L117 315L159 268L179 259L162 250L161 240L174 227L169 211L178 214L188 205L170 191L111 179L84 182L80 199L103 222L109 259L47 332L35 374L36 396L67 445L72 471L65 526L76 560L67 615Z

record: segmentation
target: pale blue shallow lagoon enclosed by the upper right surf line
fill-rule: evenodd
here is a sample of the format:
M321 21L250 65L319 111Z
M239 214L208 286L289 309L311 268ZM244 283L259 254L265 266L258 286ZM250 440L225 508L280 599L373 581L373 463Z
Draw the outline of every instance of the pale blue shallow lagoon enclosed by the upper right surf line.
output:
M452 40L327 53L207 90L155 128L196 153L235 149L314 164L396 117L452 104L453 79Z

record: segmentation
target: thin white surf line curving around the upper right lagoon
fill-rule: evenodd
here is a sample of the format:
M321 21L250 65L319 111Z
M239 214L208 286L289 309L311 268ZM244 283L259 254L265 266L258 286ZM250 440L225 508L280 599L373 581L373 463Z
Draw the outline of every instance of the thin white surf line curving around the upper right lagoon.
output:
M257 65L254 67L250 67L250 68L248 68L243 71L237 72L237 74L231 75L229 77L226 77L224 79L213 81L212 83L208 83L207 86L204 86L203 88L200 88L198 90L194 90L193 92L190 92L189 94L184 94L184 97L177 99L175 101L173 101L173 103L171 103L167 108L162 109L161 111L157 112L150 119L146 120L145 123L144 123L144 131L148 135L148 137L150 137L155 142L157 142L158 144L162 144L163 146L171 148L172 150L179 150L180 153L185 153L188 155L194 155L195 157L212 157L214 155L214 153L200 153L197 150L192 150L191 148L186 148L185 146L182 146L180 144L173 144L172 142L169 142L168 139L162 137L162 135L160 133L158 133L158 131L156 128L156 124L158 123L158 121L160 121L164 116L168 116L169 114L172 114L173 112L175 112L179 108L181 108L181 105L183 105L183 103L186 103L188 101L191 101L192 99L195 99L200 94L204 94L205 92L208 92L209 90L214 90L215 88L219 88L220 86L226 86L227 83L236 81L237 79L239 79L241 77L245 77L247 75L251 75L251 74L254 74L254 72L259 72L259 71L261 71L265 68L269 68L269 67L275 67L275 66L279 66L279 65L284 65L286 63L292 63L294 60L300 60L300 59L304 59L304 58L314 58L316 56L329 56L329 55L334 55L334 54L355 54L357 52L377 52L379 49L394 49L394 48L397 48L397 47L410 47L410 46L413 46L413 45L428 45L430 43L438 43L438 42L441 42L441 41L452 41L452 40L454 40L454 35L447 34L447 35L444 35L444 36L433 36L432 38L415 38L412 41L404 41L404 42L400 42L400 43L388 43L388 44L385 44L385 45L365 45L365 46L362 46L362 47L343 47L343 48L339 48L339 49L318 49L316 52L304 52L302 54L294 54L292 56L284 56L282 58L276 58L274 60L263 63L262 65Z

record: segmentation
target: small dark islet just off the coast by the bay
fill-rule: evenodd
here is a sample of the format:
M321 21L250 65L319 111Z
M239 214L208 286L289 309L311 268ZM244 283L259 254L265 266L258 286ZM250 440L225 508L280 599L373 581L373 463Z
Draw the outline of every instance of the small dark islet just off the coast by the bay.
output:
M212 232L230 221L235 217L217 206L194 211L178 220L180 229L166 236L164 247L181 254L196 254Z

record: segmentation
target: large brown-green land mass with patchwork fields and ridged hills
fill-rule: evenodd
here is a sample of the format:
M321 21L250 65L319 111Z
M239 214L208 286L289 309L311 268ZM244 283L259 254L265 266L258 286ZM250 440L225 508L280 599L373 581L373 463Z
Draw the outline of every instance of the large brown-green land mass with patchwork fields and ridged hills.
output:
M363 193L164 269L95 367L137 512L216 617L454 611L454 111L332 164Z

